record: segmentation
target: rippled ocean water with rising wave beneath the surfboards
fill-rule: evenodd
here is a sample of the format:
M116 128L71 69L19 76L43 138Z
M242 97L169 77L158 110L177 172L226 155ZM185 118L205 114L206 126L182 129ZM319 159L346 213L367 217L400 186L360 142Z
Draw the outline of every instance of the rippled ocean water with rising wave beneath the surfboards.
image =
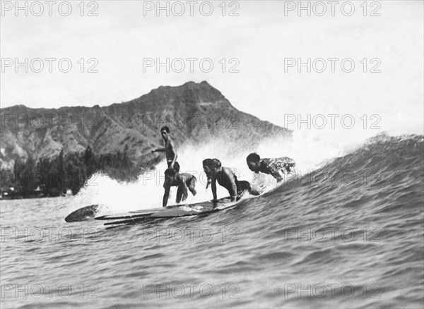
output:
M157 183L105 176L75 197L1 201L1 307L422 308L423 136L323 153L271 192L204 217L64 222L98 199L122 212L161 197Z

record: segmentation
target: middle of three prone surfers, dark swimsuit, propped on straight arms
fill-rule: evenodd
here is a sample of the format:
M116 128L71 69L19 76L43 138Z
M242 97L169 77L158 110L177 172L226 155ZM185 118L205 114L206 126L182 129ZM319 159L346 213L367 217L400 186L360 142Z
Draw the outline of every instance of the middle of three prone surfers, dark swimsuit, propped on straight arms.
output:
M211 170L213 200L216 200L216 181L228 190L232 201L240 198L246 191L253 195L259 194L252 190L248 181L238 181L237 176L228 167L223 167L218 159L211 160L209 169Z

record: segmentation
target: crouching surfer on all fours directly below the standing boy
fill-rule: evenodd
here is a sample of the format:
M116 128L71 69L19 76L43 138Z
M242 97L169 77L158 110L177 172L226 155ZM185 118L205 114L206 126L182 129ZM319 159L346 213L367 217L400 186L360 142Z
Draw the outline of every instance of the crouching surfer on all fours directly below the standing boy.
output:
M179 203L181 200L187 200L189 193L187 192L187 188L189 191L196 195L196 190L194 187L196 186L196 177L191 174L186 173L178 173L175 172L175 169L167 169L165 171L165 183L163 183L163 188L165 189L165 193L163 194L163 203L162 206L166 207L167 200L170 196L170 188L178 187L177 189L177 200Z

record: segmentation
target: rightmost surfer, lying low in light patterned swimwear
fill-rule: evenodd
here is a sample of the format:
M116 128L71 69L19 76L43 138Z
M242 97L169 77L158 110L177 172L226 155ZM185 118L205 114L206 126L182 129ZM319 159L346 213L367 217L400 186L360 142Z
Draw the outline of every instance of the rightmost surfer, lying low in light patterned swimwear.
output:
M255 173L270 174L278 182L283 181L283 176L295 172L295 161L288 157L261 159L259 154L251 153L246 158L247 166Z

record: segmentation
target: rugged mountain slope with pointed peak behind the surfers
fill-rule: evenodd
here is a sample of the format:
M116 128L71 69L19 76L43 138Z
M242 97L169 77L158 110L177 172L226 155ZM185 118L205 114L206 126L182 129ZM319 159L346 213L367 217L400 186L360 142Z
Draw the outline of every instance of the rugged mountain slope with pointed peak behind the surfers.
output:
M228 147L254 145L263 138L290 137L291 132L232 107L228 99L209 85L189 82L178 87L158 87L147 95L106 107L30 109L17 105L0 109L1 167L14 159L52 157L81 152L126 151L136 164L152 162L163 147L159 128L169 126L177 146L206 143L213 138Z

